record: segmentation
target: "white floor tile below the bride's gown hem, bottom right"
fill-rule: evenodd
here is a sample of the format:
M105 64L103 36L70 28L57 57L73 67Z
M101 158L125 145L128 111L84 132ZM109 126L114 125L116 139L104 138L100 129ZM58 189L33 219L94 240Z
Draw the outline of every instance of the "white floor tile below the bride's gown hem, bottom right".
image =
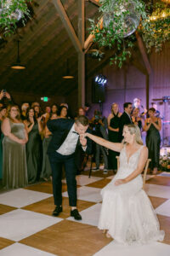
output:
M102 248L95 256L169 256L170 246L161 242L153 242L148 245L123 246L115 241L111 241Z

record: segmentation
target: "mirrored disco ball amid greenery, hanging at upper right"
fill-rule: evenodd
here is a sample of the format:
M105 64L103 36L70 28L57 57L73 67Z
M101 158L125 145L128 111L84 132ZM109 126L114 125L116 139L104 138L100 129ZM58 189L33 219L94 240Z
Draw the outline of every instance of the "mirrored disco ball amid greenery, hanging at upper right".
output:
M107 29L113 26L113 30L116 27L114 25L114 18L122 21L122 27L120 28L120 33L123 30L123 38L127 38L136 31L139 26L140 15L136 11L134 3L132 0L124 0L121 5L116 3L116 0L112 0L112 10L109 13L104 14L104 27ZM128 11L128 14L124 16L123 13Z

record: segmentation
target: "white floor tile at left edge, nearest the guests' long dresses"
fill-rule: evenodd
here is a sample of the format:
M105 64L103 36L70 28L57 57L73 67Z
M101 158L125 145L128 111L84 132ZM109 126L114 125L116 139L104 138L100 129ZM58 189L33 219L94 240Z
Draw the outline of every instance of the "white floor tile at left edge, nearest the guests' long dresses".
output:
M10 207L26 207L52 195L28 189L15 189L0 195L0 203Z

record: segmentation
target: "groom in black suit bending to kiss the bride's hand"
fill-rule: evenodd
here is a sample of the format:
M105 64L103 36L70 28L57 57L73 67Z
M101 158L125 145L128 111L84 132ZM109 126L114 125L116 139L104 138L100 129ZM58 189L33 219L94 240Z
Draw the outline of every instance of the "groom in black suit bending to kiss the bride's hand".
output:
M75 159L78 150L83 150L91 154L92 143L90 140L80 137L88 130L88 118L78 116L74 121L72 119L53 119L48 120L48 130L52 132L53 137L48 146L48 157L52 168L54 216L62 212L62 166L65 165L65 176L71 206L71 216L77 220L82 216L77 210L77 166ZM88 132L90 132L88 130Z

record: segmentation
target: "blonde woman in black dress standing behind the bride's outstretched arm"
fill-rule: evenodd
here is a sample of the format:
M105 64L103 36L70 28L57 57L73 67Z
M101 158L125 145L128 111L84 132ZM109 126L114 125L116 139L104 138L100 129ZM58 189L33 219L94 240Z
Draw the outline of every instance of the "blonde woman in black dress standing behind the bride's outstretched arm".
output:
M119 112L119 107L117 103L111 105L111 113L107 118L108 122L108 131L109 131L109 141L111 143L119 143L119 120L122 113ZM112 169L113 172L116 172L117 169L117 160L116 155L119 153L109 150L109 169Z

